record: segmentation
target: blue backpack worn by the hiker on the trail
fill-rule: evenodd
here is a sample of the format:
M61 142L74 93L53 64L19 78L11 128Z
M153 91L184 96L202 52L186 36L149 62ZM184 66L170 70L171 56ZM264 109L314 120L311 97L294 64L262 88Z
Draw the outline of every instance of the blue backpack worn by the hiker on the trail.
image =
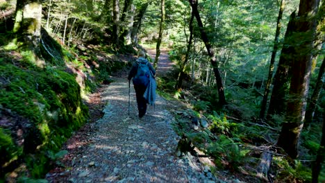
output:
M142 85L144 87L147 87L149 84L149 74L150 69L148 67L148 60L145 58L139 58L137 60L138 64L138 71L133 77L133 84L134 85Z

